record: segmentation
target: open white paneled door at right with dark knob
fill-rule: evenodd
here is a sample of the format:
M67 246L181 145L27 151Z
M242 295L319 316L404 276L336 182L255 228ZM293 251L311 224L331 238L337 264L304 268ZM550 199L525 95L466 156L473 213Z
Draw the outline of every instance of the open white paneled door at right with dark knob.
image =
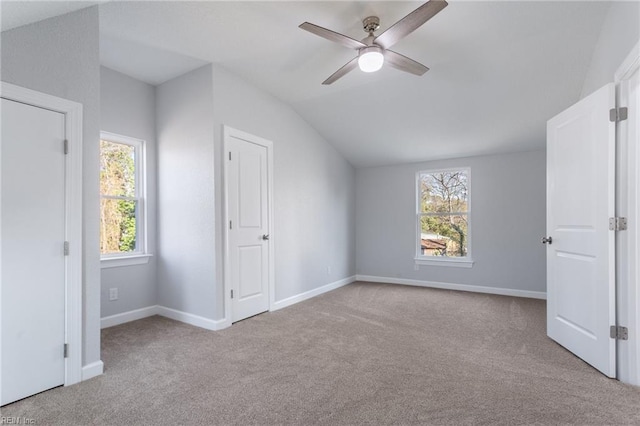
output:
M547 123L547 334L616 375L615 106L609 84Z

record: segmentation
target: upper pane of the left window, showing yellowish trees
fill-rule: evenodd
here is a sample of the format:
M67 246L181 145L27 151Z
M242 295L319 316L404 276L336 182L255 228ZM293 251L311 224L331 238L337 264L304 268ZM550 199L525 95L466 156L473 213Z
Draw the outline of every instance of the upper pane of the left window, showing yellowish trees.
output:
M136 191L134 146L100 141L100 193L134 197Z

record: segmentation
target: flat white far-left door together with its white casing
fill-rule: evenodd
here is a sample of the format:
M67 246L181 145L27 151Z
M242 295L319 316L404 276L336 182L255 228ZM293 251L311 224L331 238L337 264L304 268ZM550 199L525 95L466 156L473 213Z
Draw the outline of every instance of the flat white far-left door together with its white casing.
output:
M82 105L5 82L0 88L0 401L6 404L81 380Z

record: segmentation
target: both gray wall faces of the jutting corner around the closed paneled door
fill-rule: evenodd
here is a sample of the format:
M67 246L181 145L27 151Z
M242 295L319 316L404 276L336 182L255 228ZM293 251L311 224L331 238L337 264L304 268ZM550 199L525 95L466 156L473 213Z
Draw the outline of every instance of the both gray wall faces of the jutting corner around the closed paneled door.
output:
M223 124L274 144L276 301L355 274L355 171L290 107L212 66L156 99L158 304L225 316Z

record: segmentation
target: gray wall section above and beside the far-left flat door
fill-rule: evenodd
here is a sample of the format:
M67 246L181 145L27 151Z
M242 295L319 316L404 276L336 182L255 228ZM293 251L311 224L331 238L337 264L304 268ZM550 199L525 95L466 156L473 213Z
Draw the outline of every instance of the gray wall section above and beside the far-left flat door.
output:
M82 103L83 365L100 360L98 9L2 33L2 80Z

